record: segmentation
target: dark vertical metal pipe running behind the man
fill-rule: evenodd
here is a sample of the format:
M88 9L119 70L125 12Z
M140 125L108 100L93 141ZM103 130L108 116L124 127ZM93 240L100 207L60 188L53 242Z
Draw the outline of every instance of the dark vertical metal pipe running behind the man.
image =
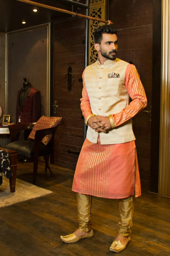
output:
M86 5L88 6L88 8L85 11L85 14L87 16L89 16L89 0L86 0ZM85 63L84 63L84 67L86 68L89 65L89 19L85 20L85 51L84 51L84 59L85 59ZM84 120L85 121L85 120ZM87 125L84 122L84 141L86 139L86 134L87 134Z

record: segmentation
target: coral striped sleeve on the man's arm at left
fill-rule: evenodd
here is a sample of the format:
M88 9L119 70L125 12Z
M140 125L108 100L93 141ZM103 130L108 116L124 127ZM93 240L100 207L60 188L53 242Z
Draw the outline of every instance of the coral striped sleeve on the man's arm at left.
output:
M85 70L84 70L84 72L85 72ZM90 100L89 100L86 85L85 85L85 82L84 82L84 72L83 72L83 75L82 75L83 91L82 91L82 98L80 99L80 101L81 101L80 107L81 107L81 111L82 111L84 119L85 119L85 123L87 125L87 122L88 122L89 118L91 116L93 116L94 114L92 114Z

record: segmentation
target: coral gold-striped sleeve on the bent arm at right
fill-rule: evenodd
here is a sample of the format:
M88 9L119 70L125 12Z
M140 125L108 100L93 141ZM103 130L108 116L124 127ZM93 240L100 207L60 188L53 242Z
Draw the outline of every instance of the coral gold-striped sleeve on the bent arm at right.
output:
M115 127L134 117L147 106L147 97L139 74L134 65L128 65L125 73L125 86L132 102L122 111L112 114ZM114 128L112 126L112 128Z

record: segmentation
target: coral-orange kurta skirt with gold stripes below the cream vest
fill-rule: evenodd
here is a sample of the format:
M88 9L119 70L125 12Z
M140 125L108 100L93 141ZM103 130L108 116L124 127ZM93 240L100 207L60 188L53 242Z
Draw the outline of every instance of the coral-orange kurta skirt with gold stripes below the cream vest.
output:
M72 190L105 198L141 195L135 141L101 145L85 140Z

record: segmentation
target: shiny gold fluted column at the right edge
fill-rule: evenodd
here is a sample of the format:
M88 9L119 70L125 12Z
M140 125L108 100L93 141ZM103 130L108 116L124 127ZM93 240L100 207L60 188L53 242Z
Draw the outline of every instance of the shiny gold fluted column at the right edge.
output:
M170 2L162 0L159 195L170 197Z

